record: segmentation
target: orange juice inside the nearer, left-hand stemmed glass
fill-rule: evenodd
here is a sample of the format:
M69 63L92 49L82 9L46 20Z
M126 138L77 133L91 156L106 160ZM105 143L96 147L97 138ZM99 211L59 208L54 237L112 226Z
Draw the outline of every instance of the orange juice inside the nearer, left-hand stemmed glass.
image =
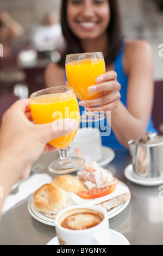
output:
M78 100L72 93L39 96L31 100L30 109L35 124L52 123L65 118L74 118L79 124ZM65 136L53 139L49 144L58 149L66 148L72 142L77 130L78 127Z

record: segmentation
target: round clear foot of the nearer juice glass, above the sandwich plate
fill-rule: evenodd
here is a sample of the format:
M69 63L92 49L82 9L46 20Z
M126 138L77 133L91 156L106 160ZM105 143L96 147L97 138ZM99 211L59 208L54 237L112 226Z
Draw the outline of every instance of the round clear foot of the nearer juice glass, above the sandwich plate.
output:
M85 160L82 157L71 156L66 159L58 159L49 165L49 171L52 173L72 173L84 166Z

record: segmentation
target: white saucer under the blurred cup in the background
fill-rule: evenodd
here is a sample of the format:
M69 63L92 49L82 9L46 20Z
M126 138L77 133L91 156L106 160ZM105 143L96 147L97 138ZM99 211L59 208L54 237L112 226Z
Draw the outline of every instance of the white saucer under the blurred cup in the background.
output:
M115 152L111 148L108 147L102 147L102 159L98 161L97 163L99 166L104 167L108 163L110 163L112 160L114 160Z

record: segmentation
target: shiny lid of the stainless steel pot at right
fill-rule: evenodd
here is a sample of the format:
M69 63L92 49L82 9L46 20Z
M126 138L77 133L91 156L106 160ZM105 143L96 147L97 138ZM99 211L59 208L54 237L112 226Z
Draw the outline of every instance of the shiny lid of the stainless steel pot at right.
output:
M163 136L157 135L156 132L148 132L141 139L135 141L137 145L144 145L147 147L155 147L163 144Z

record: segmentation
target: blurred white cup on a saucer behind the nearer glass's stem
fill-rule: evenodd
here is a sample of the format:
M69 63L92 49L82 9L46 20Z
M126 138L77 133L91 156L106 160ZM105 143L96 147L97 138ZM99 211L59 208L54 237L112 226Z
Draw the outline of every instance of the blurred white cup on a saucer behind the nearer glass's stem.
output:
M98 129L84 128L77 131L72 143L70 144L71 155L76 154L78 148L85 158L89 156L90 161L100 161L102 159L102 139Z

